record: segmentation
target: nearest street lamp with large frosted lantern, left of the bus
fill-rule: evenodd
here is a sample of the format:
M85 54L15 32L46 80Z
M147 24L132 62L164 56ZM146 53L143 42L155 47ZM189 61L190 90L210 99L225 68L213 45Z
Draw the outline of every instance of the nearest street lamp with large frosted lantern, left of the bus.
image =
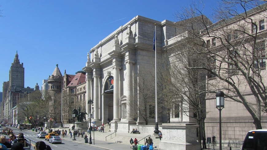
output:
M222 150L222 118L221 111L224 108L224 93L222 91L218 91L216 93L216 108L219 110L219 138L220 138L220 150Z

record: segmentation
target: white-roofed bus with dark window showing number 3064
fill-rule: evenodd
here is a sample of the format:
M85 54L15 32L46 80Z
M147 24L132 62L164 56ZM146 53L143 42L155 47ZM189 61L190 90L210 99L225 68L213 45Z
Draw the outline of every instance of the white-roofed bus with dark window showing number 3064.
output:
M243 142L242 150L267 150L267 129L249 131Z

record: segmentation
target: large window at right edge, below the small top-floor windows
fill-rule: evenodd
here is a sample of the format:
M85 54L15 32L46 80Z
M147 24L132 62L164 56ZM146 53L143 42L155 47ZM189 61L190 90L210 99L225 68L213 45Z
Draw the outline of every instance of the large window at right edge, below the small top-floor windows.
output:
M255 48L255 60L254 60L254 67L255 68L261 68L265 67L265 41L261 41L256 44Z

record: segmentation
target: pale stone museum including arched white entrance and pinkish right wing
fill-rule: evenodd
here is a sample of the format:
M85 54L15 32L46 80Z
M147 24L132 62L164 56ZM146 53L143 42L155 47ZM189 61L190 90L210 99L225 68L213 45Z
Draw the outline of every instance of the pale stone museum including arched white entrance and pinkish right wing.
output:
M265 5L262 6L262 8L266 8ZM254 27L251 26L251 24L246 24L246 28L244 29L252 34L255 34L254 32L257 31L261 35L256 43L262 43L261 51L265 52L266 36L263 35L266 35L266 9L252 9L248 11L247 16L255 20L257 26ZM222 28L231 28L231 38L226 33L215 36L219 37L224 35L228 36L231 40L238 38L234 31L238 28L237 24L239 24L239 26L240 24L244 24L242 17L239 19L231 18L225 22L225 24L212 24L209 28L212 28L214 34L219 34ZM143 73L143 70L146 70L145 73L147 77L153 76L150 72L155 71L155 51L153 50L155 24L157 62L161 61L165 50L173 44L179 43L179 34L185 33L186 30L177 26L179 22L167 20L160 22L142 16L136 16L128 23L119 27L97 45L92 47L89 51L90 54L87 54L88 61L83 68L86 72L86 99L93 99L93 103L91 104L92 114L94 116L93 121L95 121L98 126L101 123L111 121L111 131L129 132L131 131L131 125L140 126L140 130L142 130L141 125L145 125L144 119L141 115L135 113L134 109L136 108L133 107L132 104L138 104L138 102L140 102L141 93L138 86L136 86L136 81L141 80L140 75ZM257 30L255 28L257 28ZM225 50L222 48L222 43L220 43L219 38L208 37L205 32L200 33L201 36L203 36L206 47L220 50L220 52ZM227 54L225 56L227 56ZM260 73L264 75L266 72L265 55L262 55L262 57L259 64L261 69ZM216 62L213 61L213 63ZM214 64L211 64L211 66L213 65ZM231 71L233 70L232 67L233 65L230 65L228 69ZM214 71L219 69L220 68L215 68ZM220 82L216 82L218 78L209 73L206 78L207 89L220 89L218 87ZM263 82L266 83L265 78ZM217 87L211 85L217 85ZM239 87L241 88L240 90L243 91L245 97L253 99L252 93L246 89L246 84L239 83ZM151 86L151 88L154 87ZM242 88L244 89L242 90ZM206 95L206 137L219 137L219 111L216 109L215 105L215 93ZM225 93L228 92L225 91ZM234 94L232 93L232 95ZM151 97L150 100L155 101L155 98ZM87 113L90 114L90 106L86 105L86 107ZM180 107L183 107L183 105L180 105ZM149 112L155 111L149 106L146 109L149 110ZM179 115L175 115L177 112L179 112ZM150 116L151 114L152 113L149 113L148 125L153 128L156 119L155 116ZM262 113L263 116L261 117L262 128L266 127L265 114L266 113ZM193 114L189 113L189 116L193 116ZM173 106L170 114L170 121L171 123L194 122L195 120L189 116L184 115L179 107ZM159 125L167 123L167 115L159 114L158 122ZM255 129L255 125L253 124L251 114L246 110L245 106L242 103L233 102L228 98L225 101L225 108L222 110L222 129L222 140L242 141L247 131ZM149 132L153 133L153 130L149 130Z

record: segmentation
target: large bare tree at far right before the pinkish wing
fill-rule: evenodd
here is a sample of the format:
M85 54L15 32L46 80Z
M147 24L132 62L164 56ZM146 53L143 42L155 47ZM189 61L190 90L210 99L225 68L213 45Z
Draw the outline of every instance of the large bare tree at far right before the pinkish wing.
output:
M222 0L214 15L216 23L205 26L200 34L194 33L194 44L203 47L197 54L207 55L203 66L189 69L205 69L208 72L207 92L225 91L229 100L242 103L254 120L256 129L261 129L261 111L267 112L265 85L265 37L259 31L266 18L266 3L262 1ZM262 4L262 5L260 5ZM179 13L180 19L203 15L201 9L187 9ZM264 19L263 19L264 20ZM204 19L198 20L205 24ZM202 49L199 49L202 50ZM250 93L253 99L244 95Z

